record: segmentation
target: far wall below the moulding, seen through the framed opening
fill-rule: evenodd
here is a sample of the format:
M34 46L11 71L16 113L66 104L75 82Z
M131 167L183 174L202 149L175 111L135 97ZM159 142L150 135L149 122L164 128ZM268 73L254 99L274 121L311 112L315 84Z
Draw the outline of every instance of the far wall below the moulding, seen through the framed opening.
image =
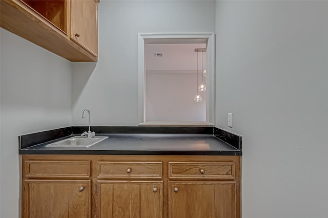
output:
M197 103L196 94L196 73L146 72L146 122L206 122L206 92Z

